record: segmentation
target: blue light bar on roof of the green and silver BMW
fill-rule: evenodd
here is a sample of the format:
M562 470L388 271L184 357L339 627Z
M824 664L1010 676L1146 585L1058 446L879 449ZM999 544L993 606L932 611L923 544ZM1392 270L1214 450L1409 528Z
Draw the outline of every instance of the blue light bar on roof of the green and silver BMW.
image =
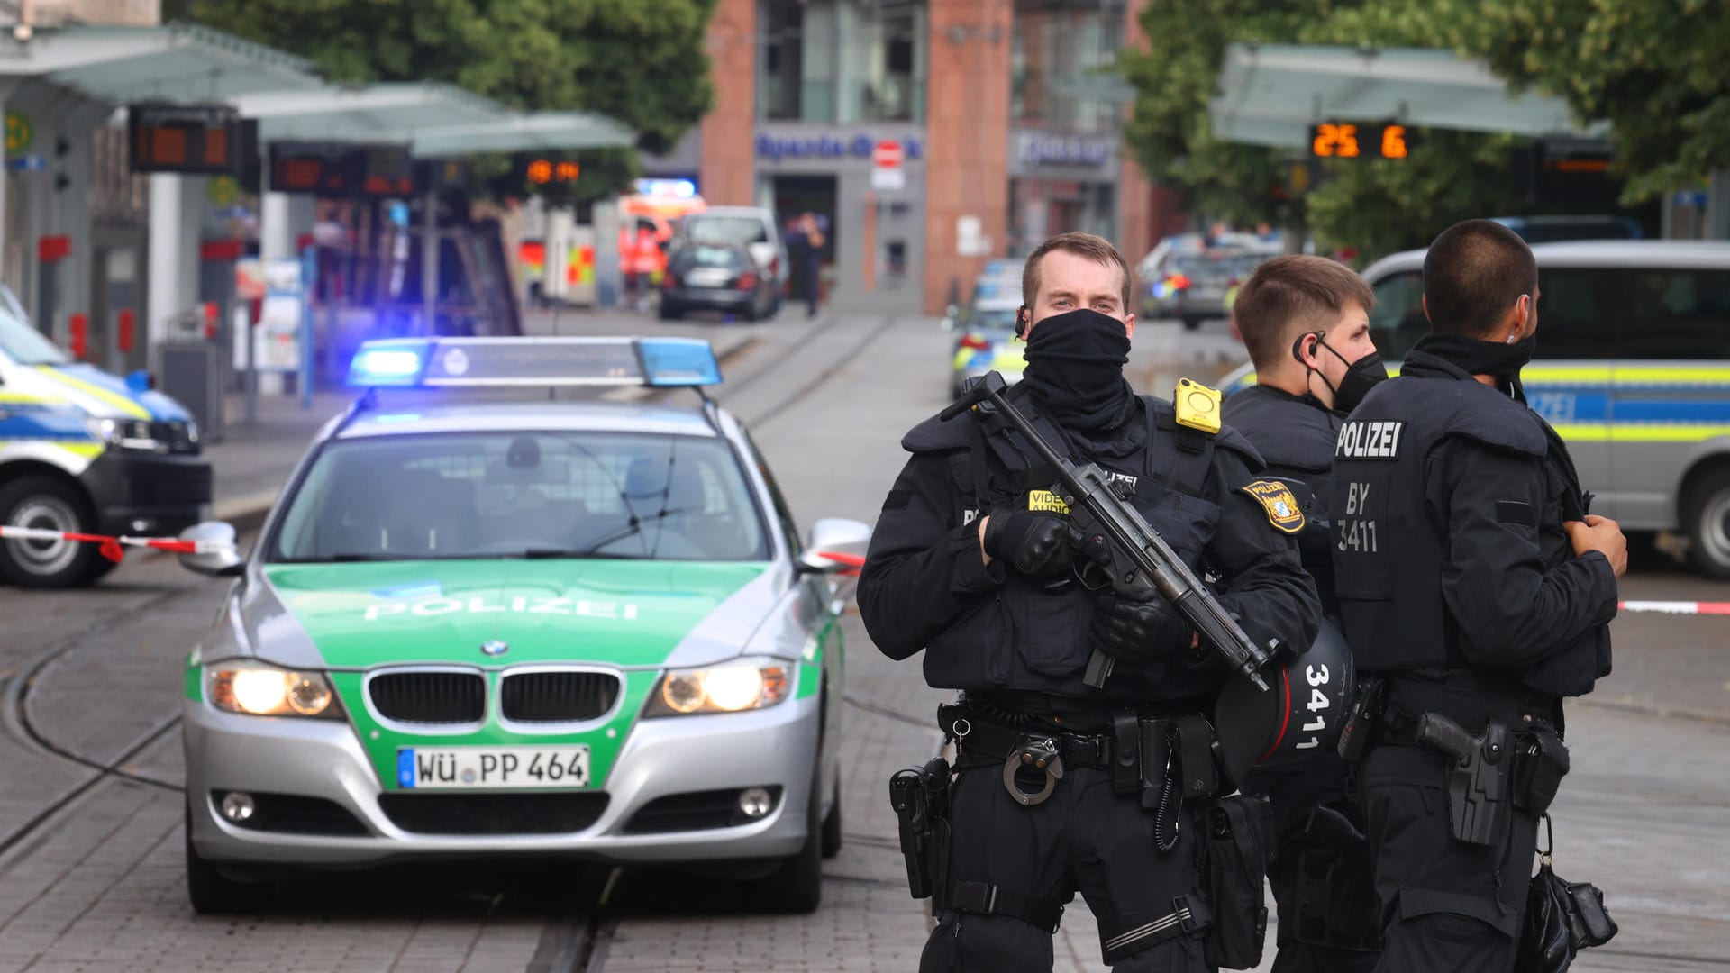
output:
M695 338L394 338L349 364L358 388L706 386L721 365Z

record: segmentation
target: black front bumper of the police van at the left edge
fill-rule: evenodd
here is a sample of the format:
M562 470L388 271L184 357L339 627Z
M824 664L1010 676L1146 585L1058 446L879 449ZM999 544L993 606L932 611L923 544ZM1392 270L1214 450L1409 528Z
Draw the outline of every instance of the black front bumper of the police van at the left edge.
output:
M99 533L173 535L209 514L211 464L197 455L104 450L80 476Z

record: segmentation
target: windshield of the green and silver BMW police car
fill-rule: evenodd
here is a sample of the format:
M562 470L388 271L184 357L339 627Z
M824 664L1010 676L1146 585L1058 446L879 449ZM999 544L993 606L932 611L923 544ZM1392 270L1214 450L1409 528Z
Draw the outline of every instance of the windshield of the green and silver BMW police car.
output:
M266 559L761 561L766 549L721 440L488 431L327 443Z

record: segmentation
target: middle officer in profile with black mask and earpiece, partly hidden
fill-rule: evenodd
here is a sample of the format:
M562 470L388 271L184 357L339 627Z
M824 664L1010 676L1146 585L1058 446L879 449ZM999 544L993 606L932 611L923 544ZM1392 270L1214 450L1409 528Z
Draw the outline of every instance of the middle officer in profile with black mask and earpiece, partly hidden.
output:
M1341 419L1387 377L1370 341L1374 303L1351 268L1294 255L1258 267L1232 308L1256 384L1227 396L1225 421L1256 447L1268 476L1303 486L1296 492L1310 504L1298 547L1323 611L1336 620L1330 519L1322 500ZM1244 789L1266 795L1278 824L1278 855L1268 869L1278 902L1273 971L1372 970L1381 914L1363 817L1346 793L1346 762L1332 748L1308 750L1258 767Z

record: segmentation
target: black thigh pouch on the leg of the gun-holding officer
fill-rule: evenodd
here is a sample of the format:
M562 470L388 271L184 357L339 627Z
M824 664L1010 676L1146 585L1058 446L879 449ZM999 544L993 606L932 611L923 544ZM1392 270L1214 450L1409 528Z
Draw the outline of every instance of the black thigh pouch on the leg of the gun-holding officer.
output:
M1263 881L1273 810L1266 800L1230 796L1202 809L1208 902L1213 925L1202 940L1208 966L1249 970L1261 963L1268 935Z

